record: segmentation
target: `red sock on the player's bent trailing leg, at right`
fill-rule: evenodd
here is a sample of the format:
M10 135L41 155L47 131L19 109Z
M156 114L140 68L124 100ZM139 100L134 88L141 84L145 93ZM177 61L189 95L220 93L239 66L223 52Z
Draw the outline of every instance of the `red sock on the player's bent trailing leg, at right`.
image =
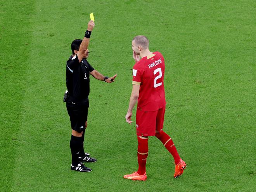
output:
M173 140L171 140L170 136L164 131L160 131L159 133L156 133L157 139L162 141L165 148L171 153L171 155L174 158L175 164L177 165L180 163L180 155L178 154L175 145L173 144Z

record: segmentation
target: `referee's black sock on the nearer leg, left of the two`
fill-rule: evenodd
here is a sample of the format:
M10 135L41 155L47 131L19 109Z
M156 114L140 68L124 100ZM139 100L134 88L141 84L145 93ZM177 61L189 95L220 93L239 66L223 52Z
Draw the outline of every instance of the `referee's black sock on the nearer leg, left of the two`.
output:
M71 135L70 149L71 149L73 166L77 166L79 163L78 155L80 153L80 148L82 143L83 143L82 137L76 137Z

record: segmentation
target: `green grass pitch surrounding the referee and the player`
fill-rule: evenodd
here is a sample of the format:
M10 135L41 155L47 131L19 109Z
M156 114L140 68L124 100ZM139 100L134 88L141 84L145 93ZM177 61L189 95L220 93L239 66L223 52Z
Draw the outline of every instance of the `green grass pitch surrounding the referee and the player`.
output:
M256 3L253 0L1 0L0 192L253 192L256 169ZM70 170L71 128L62 102L70 44L89 14L95 29L85 151L90 173ZM137 169L131 39L150 40L166 62L164 130L187 162L149 139L146 182ZM135 116L135 111L133 116ZM133 120L135 120L133 118Z

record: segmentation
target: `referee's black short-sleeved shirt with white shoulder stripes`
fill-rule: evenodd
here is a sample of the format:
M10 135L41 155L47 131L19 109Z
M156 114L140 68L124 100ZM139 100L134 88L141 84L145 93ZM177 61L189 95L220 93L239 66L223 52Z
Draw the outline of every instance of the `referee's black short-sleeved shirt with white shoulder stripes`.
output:
M66 66L66 85L69 99L72 101L88 100L90 93L90 72L94 68L88 63L86 59L78 60L78 56L70 56L67 60Z

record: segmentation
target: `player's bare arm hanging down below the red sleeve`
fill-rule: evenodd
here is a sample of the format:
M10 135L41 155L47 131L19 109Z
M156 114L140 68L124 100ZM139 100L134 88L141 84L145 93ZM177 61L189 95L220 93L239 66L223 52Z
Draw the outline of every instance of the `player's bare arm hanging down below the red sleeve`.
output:
M131 121L132 110L138 101L139 91L140 91L140 85L139 85L139 82L137 82L137 84L133 84L132 86L129 108L125 116L126 122L130 124L132 123Z

